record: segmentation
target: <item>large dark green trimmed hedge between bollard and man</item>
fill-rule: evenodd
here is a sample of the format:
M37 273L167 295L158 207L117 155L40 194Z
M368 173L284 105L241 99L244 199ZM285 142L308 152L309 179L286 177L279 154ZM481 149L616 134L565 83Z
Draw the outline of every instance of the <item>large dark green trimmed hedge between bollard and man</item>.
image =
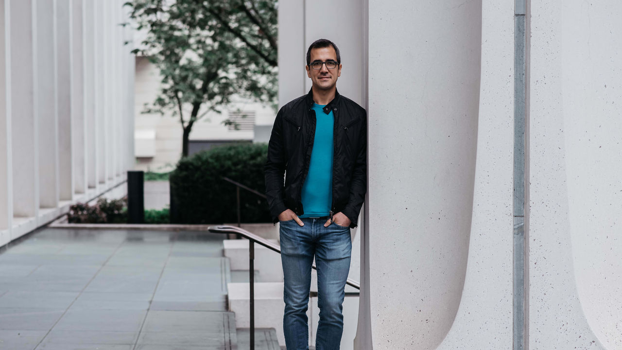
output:
M170 184L183 224L237 222L236 186L228 177L264 193L267 144L218 146L182 158L170 174ZM241 221L271 222L266 199L240 189Z

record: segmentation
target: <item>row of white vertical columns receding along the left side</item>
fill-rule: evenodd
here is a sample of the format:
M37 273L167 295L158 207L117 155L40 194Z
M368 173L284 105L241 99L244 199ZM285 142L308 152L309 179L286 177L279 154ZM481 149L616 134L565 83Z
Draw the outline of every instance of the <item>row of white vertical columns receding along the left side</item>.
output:
M0 246L124 181L134 55L123 0L0 0Z

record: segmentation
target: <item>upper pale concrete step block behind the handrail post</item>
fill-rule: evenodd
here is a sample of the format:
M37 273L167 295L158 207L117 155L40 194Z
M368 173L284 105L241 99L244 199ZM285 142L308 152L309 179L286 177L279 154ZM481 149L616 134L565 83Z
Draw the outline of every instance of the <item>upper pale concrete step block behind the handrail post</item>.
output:
M276 240L272 242L276 243ZM248 271L248 240L223 240L223 254L230 258L232 271ZM259 244L255 244L254 270L258 271L262 282L283 281L281 255Z

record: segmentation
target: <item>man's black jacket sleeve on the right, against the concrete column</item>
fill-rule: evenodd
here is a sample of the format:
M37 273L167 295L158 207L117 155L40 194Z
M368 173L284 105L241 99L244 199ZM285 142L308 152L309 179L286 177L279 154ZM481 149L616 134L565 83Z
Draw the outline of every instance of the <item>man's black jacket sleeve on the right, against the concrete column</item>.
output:
M351 228L355 228L358 224L358 214L361 212L367 192L367 113L364 110L362 118L358 151L350 179L350 198L348 204L341 210L350 219Z

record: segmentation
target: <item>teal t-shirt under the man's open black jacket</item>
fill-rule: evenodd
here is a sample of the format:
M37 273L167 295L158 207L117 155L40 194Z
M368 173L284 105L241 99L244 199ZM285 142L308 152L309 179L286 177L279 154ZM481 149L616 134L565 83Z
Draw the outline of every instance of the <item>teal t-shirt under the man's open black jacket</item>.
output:
M325 105L313 103L315 110L315 138L311 151L309 173L302 185L302 209L300 217L322 217L330 212L333 201L333 111L326 114Z

